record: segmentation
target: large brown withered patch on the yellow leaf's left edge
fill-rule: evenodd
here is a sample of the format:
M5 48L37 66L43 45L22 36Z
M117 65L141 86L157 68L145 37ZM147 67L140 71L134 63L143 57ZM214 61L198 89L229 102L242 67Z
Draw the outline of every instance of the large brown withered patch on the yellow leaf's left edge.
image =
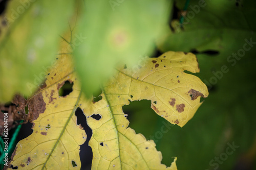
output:
M39 92L35 94L29 101L28 101L28 108L29 108L29 120L32 123L33 120L37 119L40 113L44 113L46 110L46 103L44 98L42 97L42 93Z

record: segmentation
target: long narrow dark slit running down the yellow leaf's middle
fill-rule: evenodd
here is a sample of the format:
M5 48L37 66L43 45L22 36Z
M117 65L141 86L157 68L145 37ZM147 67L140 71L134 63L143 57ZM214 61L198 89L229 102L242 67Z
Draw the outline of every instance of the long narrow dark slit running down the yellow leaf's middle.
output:
M86 116L79 107L76 109L75 115L77 117L77 125L81 125L87 134L86 142L80 146L79 155L81 160L81 169L90 169L88 167L92 166L93 152L92 148L88 145L88 142L92 137L92 129L87 125Z

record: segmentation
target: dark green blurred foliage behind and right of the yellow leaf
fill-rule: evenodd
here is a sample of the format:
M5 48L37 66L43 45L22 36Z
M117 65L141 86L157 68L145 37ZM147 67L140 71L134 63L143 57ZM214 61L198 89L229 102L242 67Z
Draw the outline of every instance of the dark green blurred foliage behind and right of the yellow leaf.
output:
M256 2L192 0L182 25L186 3L174 2L157 49L195 53L200 66L196 76L208 86L208 98L183 128L175 125L160 139L157 132L166 121L148 109L149 101L124 106L124 113L137 133L155 135L166 165L177 156L178 169L255 169ZM222 72L223 66L228 72ZM225 157L228 143L239 148ZM219 163L215 157L220 157Z

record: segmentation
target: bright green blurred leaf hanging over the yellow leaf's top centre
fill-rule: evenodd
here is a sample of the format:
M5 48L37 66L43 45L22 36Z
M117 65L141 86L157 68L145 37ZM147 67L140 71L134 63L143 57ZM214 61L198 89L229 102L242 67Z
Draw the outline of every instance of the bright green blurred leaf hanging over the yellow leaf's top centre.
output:
M87 96L113 74L118 62L139 64L150 55L154 39L167 22L170 2L86 1L77 34L84 38L76 47L76 69ZM137 61L137 63L136 63Z

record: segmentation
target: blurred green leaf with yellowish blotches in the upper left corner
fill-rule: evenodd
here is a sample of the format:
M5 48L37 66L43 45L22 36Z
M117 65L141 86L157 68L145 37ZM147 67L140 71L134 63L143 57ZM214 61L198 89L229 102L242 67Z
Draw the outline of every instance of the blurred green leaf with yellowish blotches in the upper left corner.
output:
M0 102L31 95L56 57L74 1L10 1L1 16Z

